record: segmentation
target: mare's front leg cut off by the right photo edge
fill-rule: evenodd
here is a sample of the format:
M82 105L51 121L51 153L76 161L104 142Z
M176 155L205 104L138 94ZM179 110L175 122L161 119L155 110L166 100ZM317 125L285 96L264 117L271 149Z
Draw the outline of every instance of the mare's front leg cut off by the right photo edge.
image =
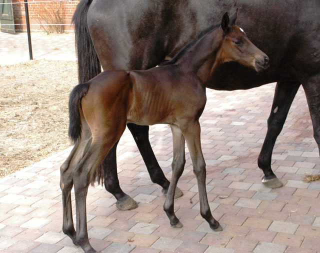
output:
M313 126L313 137L320 152L320 74L312 76L302 83L306 100L309 106Z

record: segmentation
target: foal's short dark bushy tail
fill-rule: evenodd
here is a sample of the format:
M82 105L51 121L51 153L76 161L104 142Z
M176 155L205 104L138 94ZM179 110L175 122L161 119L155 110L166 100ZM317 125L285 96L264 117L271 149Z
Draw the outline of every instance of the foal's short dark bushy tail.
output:
M76 142L81 137L81 117L80 106L81 99L89 89L89 83L81 83L76 85L69 97L69 137Z

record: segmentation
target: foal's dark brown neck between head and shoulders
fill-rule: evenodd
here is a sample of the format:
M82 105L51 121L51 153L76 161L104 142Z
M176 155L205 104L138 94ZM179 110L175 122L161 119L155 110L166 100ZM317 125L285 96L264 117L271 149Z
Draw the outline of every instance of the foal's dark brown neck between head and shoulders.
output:
M177 62L182 69L195 73L204 87L219 63L218 51L222 38L220 27L213 29L199 38Z

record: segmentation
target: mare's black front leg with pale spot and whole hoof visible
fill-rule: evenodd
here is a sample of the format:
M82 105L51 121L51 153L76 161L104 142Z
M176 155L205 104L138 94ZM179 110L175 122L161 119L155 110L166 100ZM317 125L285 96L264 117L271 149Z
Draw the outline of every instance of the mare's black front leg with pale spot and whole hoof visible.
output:
M271 156L275 140L282 130L293 98L299 88L298 82L278 82L274 91L271 112L267 120L268 129L258 157L258 166L264 176L262 183L270 188L283 186L271 169Z

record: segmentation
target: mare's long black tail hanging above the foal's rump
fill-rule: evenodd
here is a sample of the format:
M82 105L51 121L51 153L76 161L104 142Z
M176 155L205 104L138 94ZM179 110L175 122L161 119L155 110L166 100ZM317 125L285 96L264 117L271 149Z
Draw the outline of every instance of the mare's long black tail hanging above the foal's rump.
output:
M92 0L81 0L72 16L79 83L84 83L101 72L101 64L93 47L86 19L91 2Z

